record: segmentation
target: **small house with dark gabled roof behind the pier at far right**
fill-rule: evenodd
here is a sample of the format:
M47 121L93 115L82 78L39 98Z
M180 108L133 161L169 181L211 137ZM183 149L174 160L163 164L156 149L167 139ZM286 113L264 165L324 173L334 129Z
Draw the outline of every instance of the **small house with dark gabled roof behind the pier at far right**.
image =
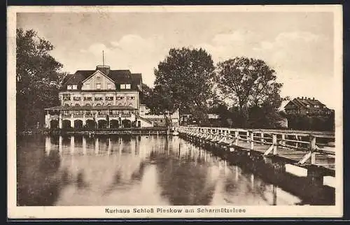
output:
M315 98L297 97L284 106L287 115L327 116L332 110Z

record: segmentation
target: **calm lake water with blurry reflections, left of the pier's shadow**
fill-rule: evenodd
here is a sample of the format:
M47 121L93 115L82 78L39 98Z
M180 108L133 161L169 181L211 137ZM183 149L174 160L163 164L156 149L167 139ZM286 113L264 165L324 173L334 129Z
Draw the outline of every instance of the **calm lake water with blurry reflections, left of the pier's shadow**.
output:
M178 136L17 140L18 205L296 205Z

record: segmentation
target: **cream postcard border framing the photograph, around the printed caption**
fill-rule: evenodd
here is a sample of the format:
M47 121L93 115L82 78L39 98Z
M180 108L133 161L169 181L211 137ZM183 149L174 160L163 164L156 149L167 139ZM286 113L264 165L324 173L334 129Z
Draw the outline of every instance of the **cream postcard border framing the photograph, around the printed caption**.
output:
M335 170L337 177L336 205L335 206L237 206L244 208L245 213L129 213L107 214L105 208L111 206L46 206L46 207L18 207L16 206L16 140L15 140L15 34L16 13L82 13L82 12L332 12L334 13L335 29L335 76L339 91L334 94L337 101L335 145L337 154ZM8 217L15 218L156 218L156 217L342 217L343 215L343 140L342 140L342 6L341 5L303 5L303 6L9 6L8 7ZM158 206L162 207L162 206ZM220 208L220 206L164 206L162 208ZM233 208L227 205L225 208ZM118 209L133 208L157 208L155 206L130 206L118 207Z

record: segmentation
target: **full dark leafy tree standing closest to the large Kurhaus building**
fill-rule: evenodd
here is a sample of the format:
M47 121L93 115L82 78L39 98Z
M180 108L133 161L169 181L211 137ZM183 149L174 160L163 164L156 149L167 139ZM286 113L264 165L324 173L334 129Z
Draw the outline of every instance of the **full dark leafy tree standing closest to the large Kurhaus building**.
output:
M163 113L190 113L200 121L207 119L207 101L211 98L214 63L202 48L172 48L155 68L154 94Z

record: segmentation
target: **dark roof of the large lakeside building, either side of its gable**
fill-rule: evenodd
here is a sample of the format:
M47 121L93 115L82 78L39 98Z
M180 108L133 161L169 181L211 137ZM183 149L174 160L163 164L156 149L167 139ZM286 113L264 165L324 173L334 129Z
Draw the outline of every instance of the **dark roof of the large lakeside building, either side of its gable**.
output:
M81 89L83 85L83 80L92 75L96 70L80 70L76 71L74 74L69 74L64 78L64 84L61 90L66 90L67 85L78 85L78 89ZM137 90L137 85L141 85L142 75L141 73L131 73L130 70L111 70L107 74L111 80L113 80L117 85L119 84L131 84L133 90Z

